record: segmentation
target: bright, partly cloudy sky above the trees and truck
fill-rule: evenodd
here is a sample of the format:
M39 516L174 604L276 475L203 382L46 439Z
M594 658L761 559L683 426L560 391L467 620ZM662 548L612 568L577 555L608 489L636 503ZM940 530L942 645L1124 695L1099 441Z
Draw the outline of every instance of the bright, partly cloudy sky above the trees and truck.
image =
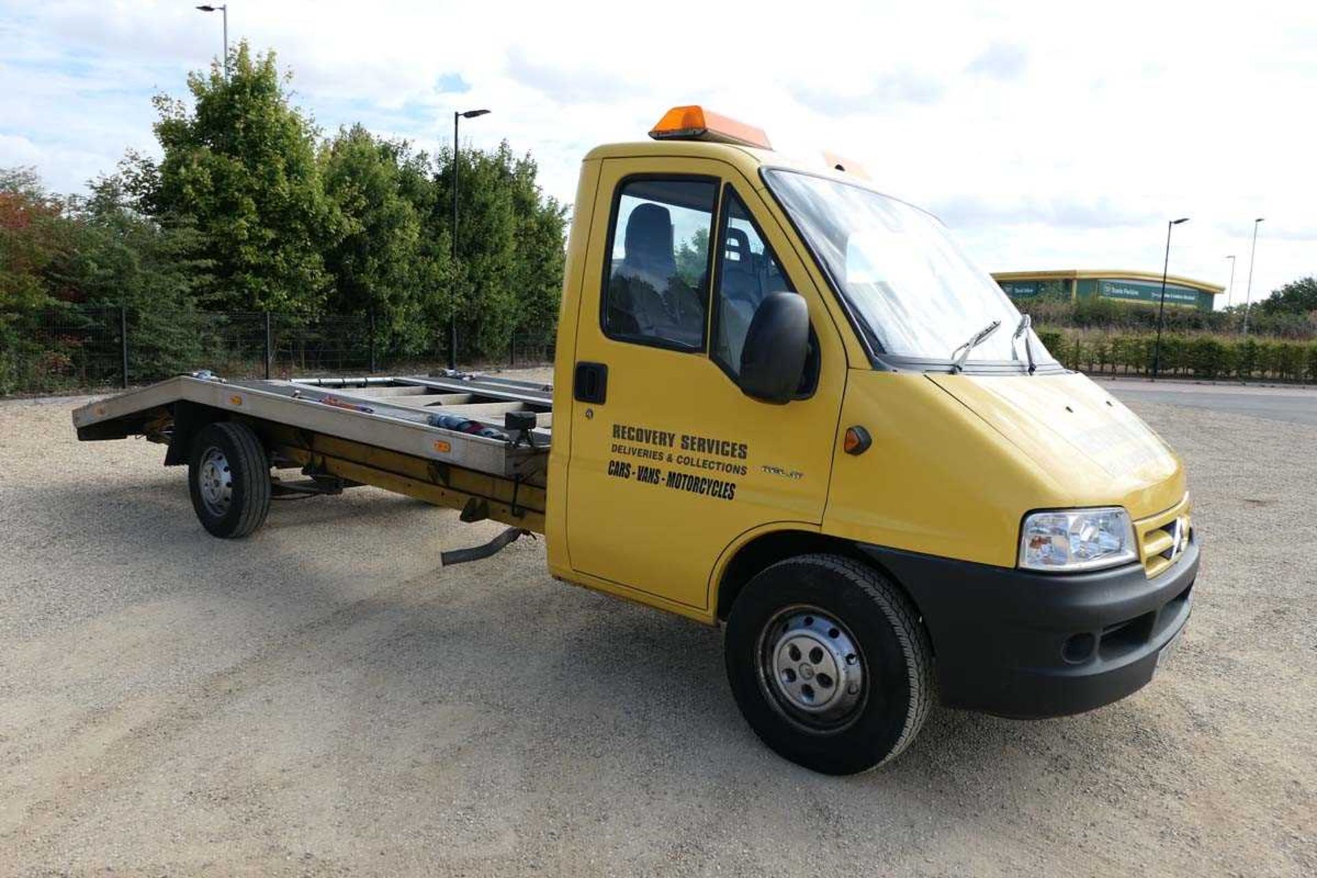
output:
M0 167L61 192L154 151L221 16L173 0L0 0ZM507 140L570 203L594 145L702 104L774 147L864 166L989 271L1160 271L1242 301L1317 275L1317 3L662 4L229 0L332 133ZM1225 296L1218 296L1225 304Z

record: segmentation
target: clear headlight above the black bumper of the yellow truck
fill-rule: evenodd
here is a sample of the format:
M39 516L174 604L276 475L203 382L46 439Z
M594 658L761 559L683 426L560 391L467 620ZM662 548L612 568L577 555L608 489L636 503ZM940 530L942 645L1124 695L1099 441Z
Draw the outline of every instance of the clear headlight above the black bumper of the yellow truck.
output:
M1138 557L1134 524L1119 507L1035 512L1019 537L1019 566L1027 570L1096 570Z

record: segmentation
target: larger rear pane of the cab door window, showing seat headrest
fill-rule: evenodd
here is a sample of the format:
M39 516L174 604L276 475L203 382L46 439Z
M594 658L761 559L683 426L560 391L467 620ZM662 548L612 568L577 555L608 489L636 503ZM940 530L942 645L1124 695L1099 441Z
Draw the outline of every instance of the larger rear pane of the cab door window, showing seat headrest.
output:
M705 349L709 240L718 184L632 179L612 211L603 332L640 344Z

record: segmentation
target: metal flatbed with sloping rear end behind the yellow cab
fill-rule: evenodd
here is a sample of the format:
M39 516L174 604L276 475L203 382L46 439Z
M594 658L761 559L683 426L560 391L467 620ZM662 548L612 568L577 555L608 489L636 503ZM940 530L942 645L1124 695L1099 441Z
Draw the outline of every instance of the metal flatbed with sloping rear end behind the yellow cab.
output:
M320 483L374 484L543 532L549 384L489 375L225 380L195 373L72 413L86 441L145 436L188 462L198 424L237 420L271 466Z

